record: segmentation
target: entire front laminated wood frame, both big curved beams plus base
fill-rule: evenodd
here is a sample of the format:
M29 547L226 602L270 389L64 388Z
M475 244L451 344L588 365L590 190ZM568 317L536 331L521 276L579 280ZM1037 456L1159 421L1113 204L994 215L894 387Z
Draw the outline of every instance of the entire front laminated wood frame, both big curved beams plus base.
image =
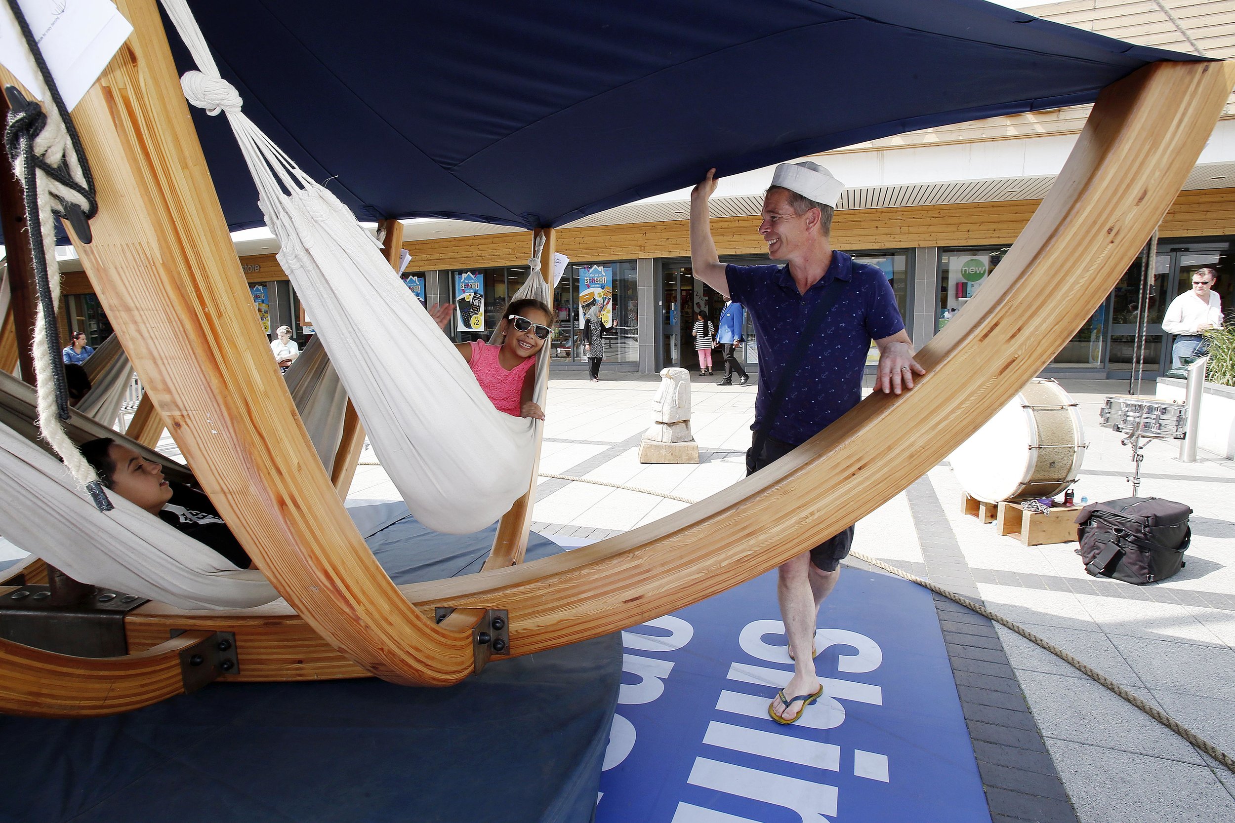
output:
M0 642L0 711L125 711L168 686L170 631L235 632L235 680L375 675L442 686L473 671L472 623L509 612L510 653L635 626L752 579L872 512L942 459L1053 357L1113 287L1195 163L1235 72L1156 63L1108 86L1011 250L919 354L787 458L600 543L520 564L529 497L479 574L395 586L322 470L266 349L193 130L156 0L121 0L135 33L74 110L99 190L90 281L203 489L283 595L266 607L126 619L112 660ZM551 248L551 243L546 243ZM550 271L546 267L546 273ZM1061 276L1066 273L1067 276ZM437 606L458 610L436 623ZM89 684L112 682L112 689Z

